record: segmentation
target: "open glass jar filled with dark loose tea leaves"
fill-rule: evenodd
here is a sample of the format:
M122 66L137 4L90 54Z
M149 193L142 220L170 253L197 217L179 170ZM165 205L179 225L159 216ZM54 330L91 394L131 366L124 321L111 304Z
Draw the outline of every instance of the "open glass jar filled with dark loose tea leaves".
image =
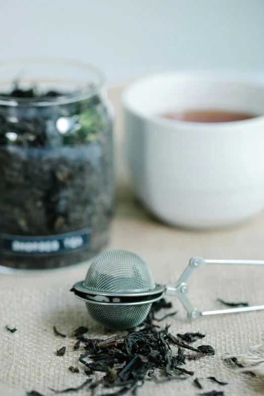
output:
M87 64L0 64L2 271L68 266L106 245L113 136L102 90Z

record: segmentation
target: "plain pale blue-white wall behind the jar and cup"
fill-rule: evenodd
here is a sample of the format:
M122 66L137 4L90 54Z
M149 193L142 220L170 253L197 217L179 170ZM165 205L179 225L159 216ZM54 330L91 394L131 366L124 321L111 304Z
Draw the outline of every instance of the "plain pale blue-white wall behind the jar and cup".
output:
M264 0L0 0L0 7L0 60L86 60L110 82L176 68L264 74Z

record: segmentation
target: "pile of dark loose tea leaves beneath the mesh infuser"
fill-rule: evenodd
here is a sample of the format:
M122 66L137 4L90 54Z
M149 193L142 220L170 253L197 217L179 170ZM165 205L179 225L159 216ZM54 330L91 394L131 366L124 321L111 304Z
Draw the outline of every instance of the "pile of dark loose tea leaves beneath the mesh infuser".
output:
M205 337L199 332L181 334L179 338L169 332L168 325L165 328L155 325L152 320L154 312L166 307L166 304L164 299L153 303L142 325L104 340L90 338L86 327L77 328L74 331L77 343L73 348L81 348L79 362L89 380L70 390L87 387L92 390L98 388L96 394L104 396L119 396L129 391L135 395L137 389L149 380L162 383L187 380L193 376L194 372L186 368L186 352L192 350L201 358L212 356L215 351L210 345L199 345L197 348L189 345L189 342ZM74 372L76 368L70 366L69 370ZM198 380L195 383L198 385ZM55 391L63 393L70 390Z

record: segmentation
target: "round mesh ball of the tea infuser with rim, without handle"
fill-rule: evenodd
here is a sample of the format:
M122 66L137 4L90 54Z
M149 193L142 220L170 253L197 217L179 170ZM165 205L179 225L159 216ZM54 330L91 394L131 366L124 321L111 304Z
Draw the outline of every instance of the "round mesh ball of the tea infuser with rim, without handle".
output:
M112 250L93 260L85 280L73 291L96 322L124 330L144 321L164 287L155 285L150 268L137 254Z

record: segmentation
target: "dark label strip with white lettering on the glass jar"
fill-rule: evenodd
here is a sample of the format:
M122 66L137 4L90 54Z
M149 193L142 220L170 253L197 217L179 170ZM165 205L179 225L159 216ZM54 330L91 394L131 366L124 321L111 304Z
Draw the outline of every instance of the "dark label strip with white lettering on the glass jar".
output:
M1 235L1 245L6 254L23 256L43 256L62 254L88 247L91 239L91 229L68 232L58 235L20 236Z

